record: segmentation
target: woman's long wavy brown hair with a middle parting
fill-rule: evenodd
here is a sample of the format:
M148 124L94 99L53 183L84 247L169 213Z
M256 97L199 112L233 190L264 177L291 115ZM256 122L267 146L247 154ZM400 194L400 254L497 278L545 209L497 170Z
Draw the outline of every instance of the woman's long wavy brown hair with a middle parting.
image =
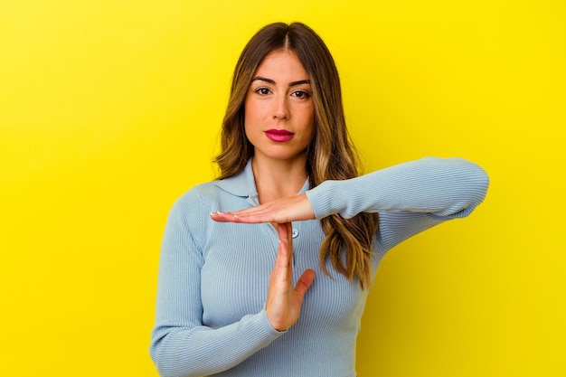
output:
M259 63L275 50L290 49L310 76L315 105L313 140L307 148L307 174L313 188L326 180L358 175L359 160L350 141L342 104L340 79L325 42L307 25L269 24L259 30L241 52L231 83L228 108L222 122L222 152L216 157L219 179L240 173L254 149L244 130L244 100ZM325 240L320 263L325 260L346 278L358 278L360 287L372 283L372 242L378 227L377 213L362 212L351 219L334 214L320 221Z

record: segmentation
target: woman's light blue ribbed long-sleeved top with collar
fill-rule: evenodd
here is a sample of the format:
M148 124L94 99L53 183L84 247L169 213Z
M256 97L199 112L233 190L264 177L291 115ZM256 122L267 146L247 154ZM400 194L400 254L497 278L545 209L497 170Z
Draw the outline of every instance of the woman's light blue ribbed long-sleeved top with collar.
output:
M423 158L301 193L321 219L379 212L373 275L392 247L484 200L484 170L460 158ZM162 376L355 376L355 341L368 292L318 262L320 222L296 221L294 277L316 271L296 325L269 325L265 299L278 250L269 224L215 222L210 212L258 205L250 162L241 174L200 184L174 204L159 264L151 357ZM330 262L329 271L334 271Z

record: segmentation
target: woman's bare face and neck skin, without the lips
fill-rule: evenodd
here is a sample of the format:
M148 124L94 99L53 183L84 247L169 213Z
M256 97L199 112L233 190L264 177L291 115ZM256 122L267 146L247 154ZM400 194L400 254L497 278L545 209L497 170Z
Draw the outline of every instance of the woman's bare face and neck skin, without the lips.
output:
M270 52L250 82L244 126L254 146L251 165L259 203L293 196L305 184L306 150L315 122L309 79L296 53L285 50ZM270 130L286 131L292 138L274 141Z

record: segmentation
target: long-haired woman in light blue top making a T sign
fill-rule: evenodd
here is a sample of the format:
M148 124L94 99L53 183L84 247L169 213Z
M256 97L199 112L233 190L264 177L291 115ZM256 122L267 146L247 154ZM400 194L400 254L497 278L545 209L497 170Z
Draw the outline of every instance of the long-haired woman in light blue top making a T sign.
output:
M216 162L219 179L185 193L165 228L163 376L355 376L383 255L467 216L488 185L458 158L357 176L335 63L304 24L269 24L241 53Z

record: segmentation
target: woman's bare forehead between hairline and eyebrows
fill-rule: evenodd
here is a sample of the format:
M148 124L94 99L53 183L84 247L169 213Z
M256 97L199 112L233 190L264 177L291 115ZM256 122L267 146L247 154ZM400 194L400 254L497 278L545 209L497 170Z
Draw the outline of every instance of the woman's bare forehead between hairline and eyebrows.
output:
M308 73L298 60L293 50L276 50L269 52L259 63L254 77L261 76L269 79L307 80Z

